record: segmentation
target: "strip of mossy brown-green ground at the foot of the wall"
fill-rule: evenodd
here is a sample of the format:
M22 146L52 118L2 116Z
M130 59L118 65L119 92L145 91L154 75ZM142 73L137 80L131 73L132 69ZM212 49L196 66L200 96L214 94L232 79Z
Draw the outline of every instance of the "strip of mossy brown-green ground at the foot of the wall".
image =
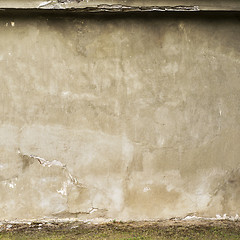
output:
M82 222L9 224L0 239L240 239L240 222L158 221L87 224Z

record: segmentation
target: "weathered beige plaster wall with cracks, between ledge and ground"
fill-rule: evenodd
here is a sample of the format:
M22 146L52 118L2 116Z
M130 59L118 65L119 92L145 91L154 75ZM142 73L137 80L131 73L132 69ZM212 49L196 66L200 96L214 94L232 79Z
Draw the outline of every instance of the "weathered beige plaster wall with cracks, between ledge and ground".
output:
M0 36L1 219L239 214L238 19L2 17Z

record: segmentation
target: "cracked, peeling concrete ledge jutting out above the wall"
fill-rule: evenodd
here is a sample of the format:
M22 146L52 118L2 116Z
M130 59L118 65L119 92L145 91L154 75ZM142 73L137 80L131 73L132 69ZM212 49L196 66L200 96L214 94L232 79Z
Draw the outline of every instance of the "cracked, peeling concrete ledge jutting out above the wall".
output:
M0 0L1 9L115 11L240 11L239 0Z

